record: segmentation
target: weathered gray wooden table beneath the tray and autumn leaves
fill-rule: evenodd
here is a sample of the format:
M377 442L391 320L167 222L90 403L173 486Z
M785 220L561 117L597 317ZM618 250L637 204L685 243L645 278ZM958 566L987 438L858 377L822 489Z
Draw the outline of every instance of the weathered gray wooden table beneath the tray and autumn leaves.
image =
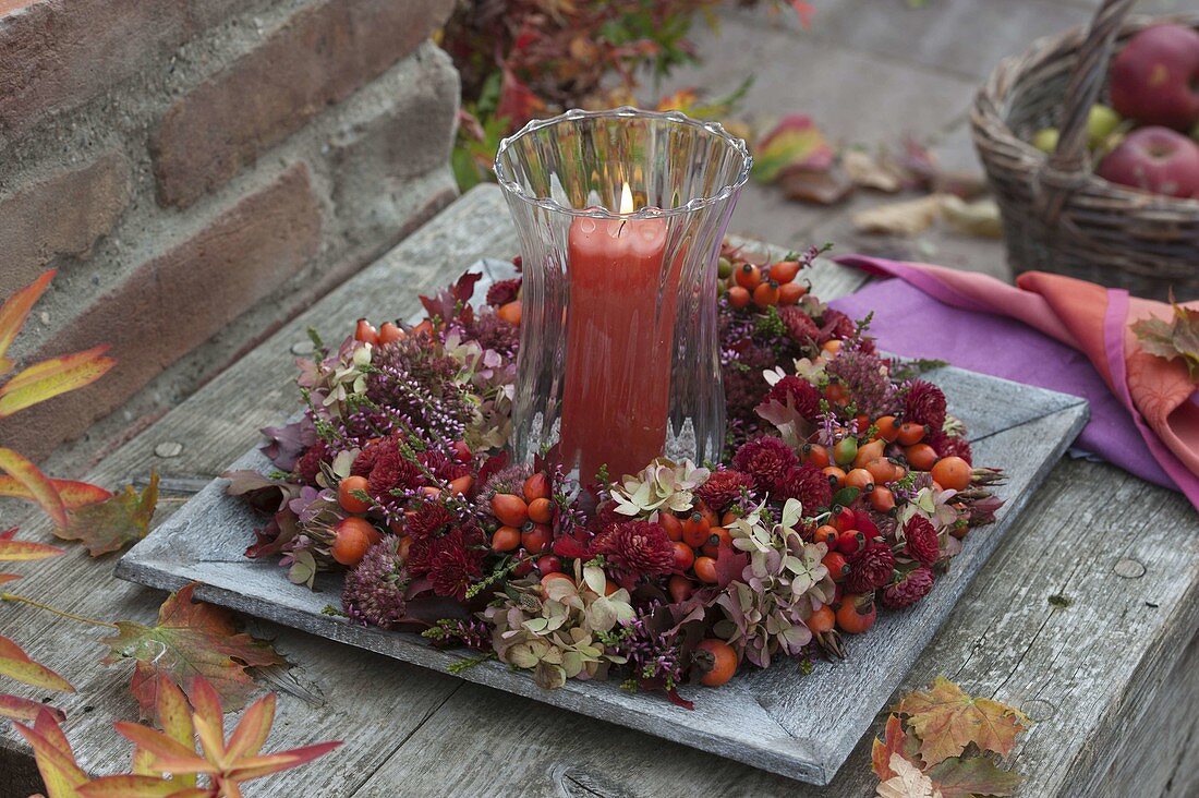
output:
M246 355L89 479L114 487L164 476L156 521L219 474L261 426L295 409L291 350L305 330L333 338L360 316L410 316L417 294L482 256L514 254L500 192L470 192L378 263ZM857 272L821 264L824 298L855 290ZM163 458L155 449L182 444ZM171 451L162 448L159 451ZM171 488L176 488L173 492ZM5 526L10 518L5 518ZM12 520L48 539L35 514ZM115 557L23 564L11 589L100 619L149 622L163 594L113 577ZM1028 796L1199 793L1199 517L1176 493L1110 466L1062 461L934 637L902 691L945 674L1037 722L1014 767ZM638 732L468 684L452 676L248 619L295 664L265 674L281 692L267 748L345 745L319 764L260 782L259 796L397 794L873 794L869 738L819 790ZM74 683L54 696L80 763L127 767L112 721L134 718L128 671L98 664L95 628L13 604L0 631ZM8 689L11 683L4 686ZM42 697L36 691L22 695ZM0 798L40 788L28 750L0 732Z

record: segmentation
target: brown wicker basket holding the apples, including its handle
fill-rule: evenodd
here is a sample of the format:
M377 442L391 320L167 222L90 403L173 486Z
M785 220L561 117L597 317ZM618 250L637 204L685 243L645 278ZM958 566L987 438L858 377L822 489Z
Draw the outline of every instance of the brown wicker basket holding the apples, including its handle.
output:
M1097 178L1086 119L1107 83L1114 46L1162 22L1199 28L1199 14L1127 19L1134 0L1105 0L1089 29L1037 41L1004 60L971 113L975 145L1004 216L1019 274L1054 271L1135 295L1199 298L1199 202L1134 191ZM1061 134L1046 156L1029 139Z

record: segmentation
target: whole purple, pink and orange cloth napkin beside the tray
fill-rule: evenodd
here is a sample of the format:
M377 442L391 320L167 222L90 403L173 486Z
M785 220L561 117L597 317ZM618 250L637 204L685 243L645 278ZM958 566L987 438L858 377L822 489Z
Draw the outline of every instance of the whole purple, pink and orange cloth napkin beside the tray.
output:
M1199 508L1195 385L1181 361L1143 352L1129 329L1151 316L1169 320L1173 317L1169 305L1038 271L1020 275L1016 286L1008 286L987 275L928 264L863 256L848 256L838 262L873 275L897 277L918 289L918 293L897 290L906 287L886 281L833 302L855 318L864 314L856 311L866 311L870 305L891 311L876 312L870 328L882 348L908 356L939 356L964 368L1087 396L1092 400L1087 431L1098 432L1091 427L1099 425L1108 428L1107 438L1122 439L1125 448L1133 449L1143 442L1143 449L1121 452L1114 445L1104 445L1113 440L1087 436L1087 431L1080 443L1145 479L1171 484ZM903 316L887 302L888 294L908 295ZM1199 310L1199 302L1189 302L1187 307ZM918 325L904 323L912 314L921 319ZM956 317L958 320L953 322ZM1011 320L1020 325L1013 328ZM939 323L945 326L951 322L953 329L936 329ZM1031 330L1019 329L1024 325ZM918 344L911 340L917 331ZM1058 355L1059 362L1052 364L1053 373L1048 376L1044 346L1035 340L1041 336L1052 340L1044 344L1062 344L1058 349L1064 354ZM963 340L970 349L986 352L981 362L963 362L971 360L969 355L962 356ZM1071 358L1071 349L1081 353L1085 361ZM1109 395L1089 396L1099 383Z

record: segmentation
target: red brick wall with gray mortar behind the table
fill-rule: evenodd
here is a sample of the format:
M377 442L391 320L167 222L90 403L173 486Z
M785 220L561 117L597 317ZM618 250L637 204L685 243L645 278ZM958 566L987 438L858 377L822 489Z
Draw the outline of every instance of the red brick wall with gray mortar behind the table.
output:
M452 199L452 7L0 0L0 299L59 269L13 354L119 360L0 442L135 427Z

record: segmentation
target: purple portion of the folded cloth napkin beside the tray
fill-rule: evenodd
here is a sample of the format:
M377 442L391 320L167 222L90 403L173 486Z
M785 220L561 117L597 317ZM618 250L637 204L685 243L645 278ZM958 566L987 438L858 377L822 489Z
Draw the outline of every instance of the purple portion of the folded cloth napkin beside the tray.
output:
M935 358L1086 398L1091 420L1078 445L1137 476L1177 490L1153 460L1128 412L1081 352L1016 319L951 307L898 278L872 283L830 305L855 319L873 311L870 334L887 352ZM1117 360L1122 372L1123 358Z

